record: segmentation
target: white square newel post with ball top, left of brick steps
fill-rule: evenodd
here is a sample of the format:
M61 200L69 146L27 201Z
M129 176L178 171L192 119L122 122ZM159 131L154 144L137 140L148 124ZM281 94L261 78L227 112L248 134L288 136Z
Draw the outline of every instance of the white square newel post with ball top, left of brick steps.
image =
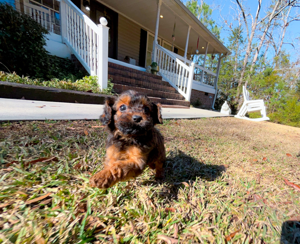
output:
M102 89L107 88L108 76L108 30L106 26L107 20L104 17L100 18L99 27L99 40L98 41L98 54L97 54L97 76L98 84Z

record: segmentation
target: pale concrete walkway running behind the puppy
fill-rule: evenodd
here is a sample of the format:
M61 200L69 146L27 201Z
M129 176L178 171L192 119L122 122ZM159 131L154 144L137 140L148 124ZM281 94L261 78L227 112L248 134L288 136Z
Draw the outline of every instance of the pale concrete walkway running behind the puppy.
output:
M103 113L104 105L67 102L43 102L0 98L1 121L32 120L96 120ZM224 117L226 114L204 109L163 108L164 119L194 119ZM231 115L233 116L233 115Z

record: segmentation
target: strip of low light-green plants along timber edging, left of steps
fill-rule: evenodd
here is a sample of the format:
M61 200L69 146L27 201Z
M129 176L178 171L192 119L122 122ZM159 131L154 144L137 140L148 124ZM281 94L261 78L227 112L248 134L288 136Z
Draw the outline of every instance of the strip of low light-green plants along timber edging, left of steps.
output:
M85 76L82 79L73 81L71 79L51 79L49 81L45 81L43 79L30 79L28 76L20 77L16 73L5 73L0 71L0 81L35 85L35 86L43 86L43 87L53 87L60 89L67 89L73 91L89 91L92 90L93 93L98 94L113 94L113 83L111 80L107 81L107 88L100 89L98 85L97 76Z

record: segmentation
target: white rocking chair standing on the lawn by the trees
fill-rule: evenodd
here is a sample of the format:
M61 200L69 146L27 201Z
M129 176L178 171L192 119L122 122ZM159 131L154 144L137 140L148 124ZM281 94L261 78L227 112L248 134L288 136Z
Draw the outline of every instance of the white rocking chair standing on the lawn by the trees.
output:
M245 86L243 86L243 95L244 95L244 102L243 105L238 111L237 115L234 117L244 120L252 120L252 121L264 121L269 120L266 114L266 106L264 105L264 100L250 100L249 98L249 91L246 90ZM246 117L246 113L254 113L254 112L261 112L261 118L257 119L250 119Z

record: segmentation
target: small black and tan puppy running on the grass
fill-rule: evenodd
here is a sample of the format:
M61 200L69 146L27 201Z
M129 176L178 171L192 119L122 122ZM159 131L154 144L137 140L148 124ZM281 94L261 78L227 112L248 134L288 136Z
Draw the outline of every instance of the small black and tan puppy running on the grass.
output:
M100 117L108 130L104 169L93 175L92 187L108 188L141 174L148 165L163 178L166 161L163 136L154 127L163 124L161 104L135 91L108 97Z

